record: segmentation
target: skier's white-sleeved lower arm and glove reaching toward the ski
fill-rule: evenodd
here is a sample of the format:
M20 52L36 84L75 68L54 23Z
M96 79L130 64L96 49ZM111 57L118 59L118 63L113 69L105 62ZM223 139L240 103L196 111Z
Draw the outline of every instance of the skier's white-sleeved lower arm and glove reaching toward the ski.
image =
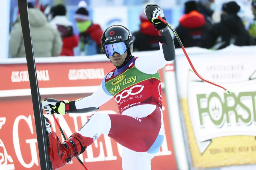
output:
M101 105L112 98L112 95L106 90L103 79L100 87L90 96L73 101L59 101L56 99L44 99L42 101L43 109L47 114L66 114L66 113L86 113L96 111Z

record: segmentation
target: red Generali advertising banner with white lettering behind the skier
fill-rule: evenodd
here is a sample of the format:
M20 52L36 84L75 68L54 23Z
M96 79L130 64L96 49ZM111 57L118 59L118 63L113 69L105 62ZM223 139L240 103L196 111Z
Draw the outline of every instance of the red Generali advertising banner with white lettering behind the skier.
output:
M0 170L39 169L34 113L30 94L26 63L1 64L0 84ZM41 98L74 100L88 96L98 88L102 78L114 67L108 62L73 62L73 63L37 63L38 83ZM3 73L3 74L2 74ZM162 72L161 72L162 77ZM164 143L160 152L152 160L152 170L175 170L176 161L173 152L169 125L166 96L162 90L163 114L165 125ZM117 104L111 99L97 112L118 114ZM56 115L67 137L82 127L91 114ZM51 115L52 130L64 139ZM111 138L101 135L86 148L79 157L90 170L121 169L122 146ZM73 159L63 170L82 169L80 163Z

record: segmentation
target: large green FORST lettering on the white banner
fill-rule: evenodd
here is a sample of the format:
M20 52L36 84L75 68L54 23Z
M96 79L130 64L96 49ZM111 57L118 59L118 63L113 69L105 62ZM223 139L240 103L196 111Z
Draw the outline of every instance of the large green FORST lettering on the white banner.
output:
M201 101L205 99L207 103L203 106ZM232 104L228 101L232 101ZM204 116L209 116L217 128L221 128L225 123L230 125L231 121L250 126L256 122L255 102L256 92L240 92L238 96L234 93L224 93L224 101L216 92L212 92L208 97L206 94L197 94L200 126L205 126ZM235 120L231 120L230 112L234 113Z

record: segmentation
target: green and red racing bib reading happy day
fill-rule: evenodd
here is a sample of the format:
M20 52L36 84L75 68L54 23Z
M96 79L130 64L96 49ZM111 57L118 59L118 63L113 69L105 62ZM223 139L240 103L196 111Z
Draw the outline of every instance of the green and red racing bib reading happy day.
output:
M153 104L162 107L162 86L158 71L153 75L139 71L134 65L135 59L121 74L114 76L114 69L105 79L106 89L113 95L120 114L135 105Z

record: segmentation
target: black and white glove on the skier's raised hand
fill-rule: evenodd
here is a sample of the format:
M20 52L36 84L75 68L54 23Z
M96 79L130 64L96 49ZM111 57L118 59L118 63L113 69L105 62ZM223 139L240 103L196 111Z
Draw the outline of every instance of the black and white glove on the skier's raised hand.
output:
M160 16L164 20L166 18L164 17L164 12L161 7L158 7L156 4L149 4L145 8L145 14L150 22L154 24L154 27L157 30L165 28L167 25L164 24L162 21L160 21L157 17Z

